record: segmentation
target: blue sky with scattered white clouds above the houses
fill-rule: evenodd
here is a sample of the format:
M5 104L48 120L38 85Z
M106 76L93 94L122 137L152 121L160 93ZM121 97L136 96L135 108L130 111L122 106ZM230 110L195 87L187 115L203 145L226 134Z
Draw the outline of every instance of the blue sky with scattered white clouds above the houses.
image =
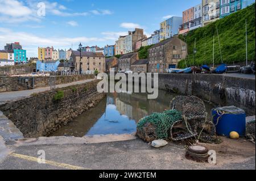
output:
M27 57L38 57L38 47L77 49L80 42L83 46L114 45L120 35L134 28L143 28L150 36L159 30L160 22L182 16L199 3L201 0L0 0L0 49L18 41Z

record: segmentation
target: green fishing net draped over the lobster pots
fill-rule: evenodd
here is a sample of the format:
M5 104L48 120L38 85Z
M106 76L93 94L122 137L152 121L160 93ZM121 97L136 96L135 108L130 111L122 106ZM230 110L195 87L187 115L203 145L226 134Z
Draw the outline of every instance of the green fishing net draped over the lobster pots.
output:
M181 112L177 110L167 110L163 113L152 113L139 121L137 128L143 131L147 123L154 124L156 127L156 136L158 139L168 138L168 131L176 121L181 120Z

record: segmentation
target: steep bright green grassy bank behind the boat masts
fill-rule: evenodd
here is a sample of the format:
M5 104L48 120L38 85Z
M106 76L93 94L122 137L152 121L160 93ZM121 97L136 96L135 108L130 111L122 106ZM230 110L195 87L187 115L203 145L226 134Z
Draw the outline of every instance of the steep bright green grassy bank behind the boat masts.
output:
M221 54L224 63L243 62L246 60L245 22L247 20L248 59L255 60L255 3L246 9L235 12L223 19L210 23L208 26L197 28L180 35L179 38L188 44L187 66L193 65L193 48L196 39L196 65L212 64L213 60L213 36L214 62L221 64ZM217 36L220 37L220 47ZM185 68L185 61L181 60L179 68Z

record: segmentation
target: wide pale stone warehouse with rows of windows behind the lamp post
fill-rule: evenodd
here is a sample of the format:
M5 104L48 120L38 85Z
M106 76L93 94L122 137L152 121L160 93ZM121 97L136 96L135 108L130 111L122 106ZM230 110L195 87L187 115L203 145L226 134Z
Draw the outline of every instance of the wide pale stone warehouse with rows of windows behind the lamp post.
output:
M98 70L99 72L105 71L105 56L103 53L81 52L81 62L79 51L73 51L71 57L73 59L76 70Z

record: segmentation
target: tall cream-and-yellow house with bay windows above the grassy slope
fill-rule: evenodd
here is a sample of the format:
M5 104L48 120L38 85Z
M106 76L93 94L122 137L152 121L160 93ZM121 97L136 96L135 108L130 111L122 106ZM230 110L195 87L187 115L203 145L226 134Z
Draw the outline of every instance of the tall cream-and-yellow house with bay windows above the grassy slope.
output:
M203 26L220 19L220 1L202 0L203 4Z

